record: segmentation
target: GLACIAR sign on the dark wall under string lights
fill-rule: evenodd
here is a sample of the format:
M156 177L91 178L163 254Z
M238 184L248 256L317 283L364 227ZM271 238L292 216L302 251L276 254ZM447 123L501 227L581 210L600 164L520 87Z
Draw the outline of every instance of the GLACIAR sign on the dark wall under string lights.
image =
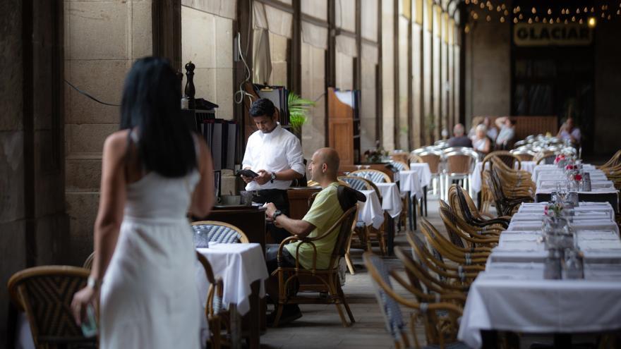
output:
M592 30L578 23L518 23L513 26L516 46L581 46L591 44Z

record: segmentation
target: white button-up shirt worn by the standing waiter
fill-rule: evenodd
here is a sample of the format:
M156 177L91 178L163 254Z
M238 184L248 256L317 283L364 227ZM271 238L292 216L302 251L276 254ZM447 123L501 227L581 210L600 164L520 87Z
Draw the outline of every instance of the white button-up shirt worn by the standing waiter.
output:
M248 138L246 154L243 154L242 168L250 168L255 172L265 170L280 172L292 169L297 173L304 174L304 156L300 140L277 123L276 128L270 133L256 131ZM263 185L255 181L246 184L246 190L282 189L286 190L291 185L291 180L278 180L274 183L269 180Z

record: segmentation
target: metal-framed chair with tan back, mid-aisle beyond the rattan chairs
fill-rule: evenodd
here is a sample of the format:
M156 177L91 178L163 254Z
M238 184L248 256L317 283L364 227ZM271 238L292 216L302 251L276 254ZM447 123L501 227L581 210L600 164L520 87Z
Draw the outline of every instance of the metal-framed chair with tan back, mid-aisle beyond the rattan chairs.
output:
M469 176L474 171L478 154L472 148L450 147L442 152L445 161L445 190L441 192L442 199L446 198L450 180L462 180L464 188L470 189Z

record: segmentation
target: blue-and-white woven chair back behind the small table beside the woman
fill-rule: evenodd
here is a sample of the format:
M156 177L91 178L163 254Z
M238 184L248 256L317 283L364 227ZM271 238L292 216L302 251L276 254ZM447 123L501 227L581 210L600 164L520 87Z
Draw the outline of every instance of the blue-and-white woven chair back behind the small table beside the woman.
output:
M221 221L195 221L192 229L197 248L207 247L209 243L248 243L240 228Z

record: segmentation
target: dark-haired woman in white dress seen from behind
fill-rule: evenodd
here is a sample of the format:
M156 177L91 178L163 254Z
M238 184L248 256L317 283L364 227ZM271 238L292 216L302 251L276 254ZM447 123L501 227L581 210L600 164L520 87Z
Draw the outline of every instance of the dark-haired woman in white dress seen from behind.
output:
M200 348L186 214L207 216L214 181L207 145L183 123L180 101L167 61L136 61L121 130L104 143L92 271L71 303L80 324L99 301L100 348Z

